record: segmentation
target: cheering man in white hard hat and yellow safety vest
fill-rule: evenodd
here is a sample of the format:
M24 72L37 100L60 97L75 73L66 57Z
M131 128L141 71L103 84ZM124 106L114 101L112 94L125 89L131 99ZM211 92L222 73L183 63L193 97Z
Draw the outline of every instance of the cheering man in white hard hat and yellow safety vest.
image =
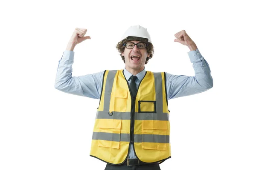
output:
M171 158L168 100L198 94L213 86L207 61L182 30L175 42L189 47L195 77L145 71L154 47L146 28L131 26L116 45L124 70L72 77L74 48L86 29L76 28L59 61L55 88L100 99L90 156L107 163L105 170L159 170Z

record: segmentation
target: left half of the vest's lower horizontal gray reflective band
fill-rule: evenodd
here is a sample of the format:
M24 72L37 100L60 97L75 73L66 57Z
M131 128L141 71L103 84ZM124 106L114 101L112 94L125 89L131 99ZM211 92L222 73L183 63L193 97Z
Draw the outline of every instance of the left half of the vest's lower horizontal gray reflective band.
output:
M114 142L130 142L130 134L128 133L106 133L106 132L93 132L94 140L105 140Z

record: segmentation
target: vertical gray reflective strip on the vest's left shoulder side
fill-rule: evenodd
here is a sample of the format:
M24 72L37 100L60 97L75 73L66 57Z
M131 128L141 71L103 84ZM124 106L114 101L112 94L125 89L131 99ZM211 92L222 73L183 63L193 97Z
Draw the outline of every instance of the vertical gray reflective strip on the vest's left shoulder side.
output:
M116 72L117 70L108 71L108 76L107 76L106 85L105 85L103 111L109 111L111 92L112 92L112 87L113 87L113 82L116 76Z

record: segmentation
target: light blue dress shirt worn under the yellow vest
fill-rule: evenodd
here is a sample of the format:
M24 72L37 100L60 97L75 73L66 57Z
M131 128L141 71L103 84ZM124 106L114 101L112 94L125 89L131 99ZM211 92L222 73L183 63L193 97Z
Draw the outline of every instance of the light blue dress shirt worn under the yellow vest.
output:
M87 74L78 77L72 77L72 65L74 62L74 51L64 51L59 60L55 88L69 94L86 96L93 99L100 99L102 90L102 78L104 71ZM213 87L211 71L207 61L202 57L198 49L189 51L190 62L193 63L195 76L189 77L185 75L173 75L166 73L166 93L167 99L173 99L181 96L189 96L209 90ZM135 82L138 88L140 81L145 76L145 68L138 73ZM130 84L132 76L124 68L124 75ZM132 144L130 144L130 152L128 158L136 158Z

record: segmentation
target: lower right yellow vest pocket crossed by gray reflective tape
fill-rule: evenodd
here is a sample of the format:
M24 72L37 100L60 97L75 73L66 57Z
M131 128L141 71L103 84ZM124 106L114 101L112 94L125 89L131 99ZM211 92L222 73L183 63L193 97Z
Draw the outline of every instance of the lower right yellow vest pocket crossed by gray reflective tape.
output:
M143 120L142 121L142 148L153 150L166 150L169 143L166 121Z

